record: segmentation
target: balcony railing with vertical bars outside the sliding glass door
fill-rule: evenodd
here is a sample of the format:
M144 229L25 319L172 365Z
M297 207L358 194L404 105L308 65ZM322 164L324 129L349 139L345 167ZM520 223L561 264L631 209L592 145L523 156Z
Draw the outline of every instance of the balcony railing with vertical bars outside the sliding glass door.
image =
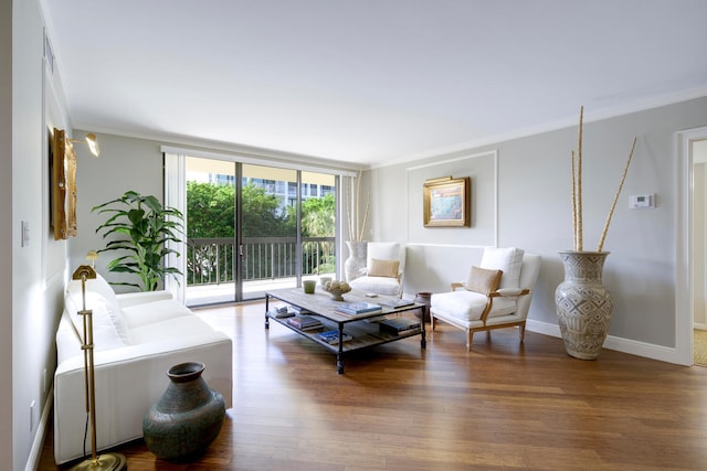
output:
M187 242L187 286L233 282L233 238L190 238ZM297 270L295 237L246 237L243 240L243 281L278 280L334 274L334 237L304 237Z

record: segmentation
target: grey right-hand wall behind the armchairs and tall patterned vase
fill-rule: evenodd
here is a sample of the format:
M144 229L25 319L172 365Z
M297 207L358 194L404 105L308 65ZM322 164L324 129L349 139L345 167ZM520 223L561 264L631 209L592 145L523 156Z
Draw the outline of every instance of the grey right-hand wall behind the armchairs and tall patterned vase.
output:
M589 110L588 110L589 111ZM584 249L595 249L615 194L633 137L636 150L609 229L604 249L611 251L604 282L614 297L610 335L655 347L675 347L675 221L678 204L675 132L707 125L707 98L665 106L622 117L584 124L583 207ZM422 207L409 204L400 211L400 195L421 193L408 188L411 174L426 165L428 176L475 174L473 159L460 165L464 154L498 152L498 245L519 246L542 256L542 268L530 308L530 323L557 328L555 288L562 281L557 250L571 248L571 161L577 127L499 142L468 152L440 156L371 171L374 229L372 239L408 244L405 293L443 291L450 281L464 279L478 260L478 227L465 229L405 227L419 220ZM439 164L435 164L437 163ZM463 161L462 161L463 162ZM654 210L630 210L629 195L656 194ZM410 201L410 197L408 199ZM402 203L404 204L404 203ZM472 202L472 212L495 208ZM479 216L482 217L482 216ZM465 233L461 237L458 232ZM435 234L434 242L428 234ZM468 240L460 244L460 238Z

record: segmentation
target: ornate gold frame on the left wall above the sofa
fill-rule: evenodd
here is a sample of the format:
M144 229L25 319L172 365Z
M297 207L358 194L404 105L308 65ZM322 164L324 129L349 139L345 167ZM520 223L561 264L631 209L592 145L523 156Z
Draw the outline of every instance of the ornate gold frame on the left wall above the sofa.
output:
M62 129L54 128L51 151L54 240L76 235L76 152Z

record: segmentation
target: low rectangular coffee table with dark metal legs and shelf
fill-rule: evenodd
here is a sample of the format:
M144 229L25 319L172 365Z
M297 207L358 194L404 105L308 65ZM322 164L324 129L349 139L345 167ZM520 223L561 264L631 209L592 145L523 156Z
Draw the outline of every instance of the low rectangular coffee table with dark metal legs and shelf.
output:
M281 317L274 309L271 309L271 301L278 300L289 307L289 317ZM314 293L307 295L300 288L279 289L265 292L265 329L270 329L270 321L273 320L287 329L312 340L325 349L336 353L336 367L338 374L344 374L344 354L355 350L367 349L369 346L383 343L397 342L414 335L421 335L420 347L426 346L423 314L426 306L424 303L410 301L409 304L392 308L383 306L388 302L394 303L398 298L378 296L369 298L363 292L356 290L344 295L344 301L335 301L330 295L321 291L318 287ZM361 314L344 314L337 311L341 304L356 302L368 302L381 304L381 311L365 312ZM302 314L300 314L302 312ZM310 315L321 323L320 328L314 330L302 330L288 322L294 317ZM382 322L386 319L409 320L402 321L409 325L401 327L400 331L391 329L390 325L381 327L381 323L392 324L401 321ZM415 322L418 325L415 327ZM321 339L323 332L336 331L338 339L334 343ZM350 340L344 340L349 338ZM338 341L337 341L338 340Z

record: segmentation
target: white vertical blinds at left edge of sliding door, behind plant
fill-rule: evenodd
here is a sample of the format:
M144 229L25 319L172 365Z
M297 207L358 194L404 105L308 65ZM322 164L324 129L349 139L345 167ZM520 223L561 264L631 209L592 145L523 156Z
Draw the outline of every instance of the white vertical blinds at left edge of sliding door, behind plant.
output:
M176 207L184 215L184 231L187 229L187 156L183 153L165 152L165 205ZM184 302L187 290L187 235L181 237L182 242L169 242L167 246L181 256L169 254L167 266L175 267L183 276L165 278L165 289L170 291L175 299Z

